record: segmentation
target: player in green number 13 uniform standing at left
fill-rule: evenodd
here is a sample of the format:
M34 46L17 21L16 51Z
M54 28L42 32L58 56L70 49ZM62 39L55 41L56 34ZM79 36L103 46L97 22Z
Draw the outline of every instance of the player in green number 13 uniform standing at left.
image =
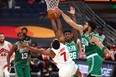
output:
M16 76L31 77L28 64L29 50L20 46L20 41L23 41L26 45L28 45L28 42L24 40L24 34L22 32L19 32L17 36L18 41L14 44L12 50L8 53L7 56L8 71L10 70L10 57L15 52L14 67Z

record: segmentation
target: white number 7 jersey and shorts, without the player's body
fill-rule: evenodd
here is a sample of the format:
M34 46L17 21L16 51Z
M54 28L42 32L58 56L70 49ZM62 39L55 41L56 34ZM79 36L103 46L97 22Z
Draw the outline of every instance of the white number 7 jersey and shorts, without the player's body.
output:
M59 70L59 77L71 77L76 73L77 67L72 59L69 57L69 51L67 47L60 43L59 49L51 48L51 50L56 54L53 61Z

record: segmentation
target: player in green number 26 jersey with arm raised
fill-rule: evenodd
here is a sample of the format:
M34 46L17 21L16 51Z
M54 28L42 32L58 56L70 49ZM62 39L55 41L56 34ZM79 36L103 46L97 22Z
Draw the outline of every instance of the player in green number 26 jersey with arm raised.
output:
M76 22L75 8L70 7L69 13L72 15L73 21ZM78 58L78 53L81 50L81 42L78 39L78 33L74 28L72 28L72 31L65 30L63 34L65 37L65 45L69 50L70 57L76 63L77 62L76 59Z

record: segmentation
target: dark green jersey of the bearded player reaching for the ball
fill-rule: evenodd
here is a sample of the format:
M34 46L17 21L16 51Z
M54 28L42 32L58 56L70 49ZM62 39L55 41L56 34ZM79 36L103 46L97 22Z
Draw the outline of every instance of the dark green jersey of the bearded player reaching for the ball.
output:
M96 34L94 32L92 32L90 35L83 33L81 37L86 56L96 53L96 45L90 42L92 36L96 36Z

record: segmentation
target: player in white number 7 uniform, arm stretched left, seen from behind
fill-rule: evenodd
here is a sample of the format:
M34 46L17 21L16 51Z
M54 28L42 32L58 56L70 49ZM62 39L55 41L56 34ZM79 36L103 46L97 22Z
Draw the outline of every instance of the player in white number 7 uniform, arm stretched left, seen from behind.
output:
M22 47L28 48L31 52L50 56L55 62L56 66L59 68L59 77L71 77L75 73L78 75L78 77L82 77L82 74L78 72L75 63L69 57L69 51L67 50L67 47L60 43L59 40L54 39L51 43L51 49L49 50L36 49L27 46L23 42L21 43Z

